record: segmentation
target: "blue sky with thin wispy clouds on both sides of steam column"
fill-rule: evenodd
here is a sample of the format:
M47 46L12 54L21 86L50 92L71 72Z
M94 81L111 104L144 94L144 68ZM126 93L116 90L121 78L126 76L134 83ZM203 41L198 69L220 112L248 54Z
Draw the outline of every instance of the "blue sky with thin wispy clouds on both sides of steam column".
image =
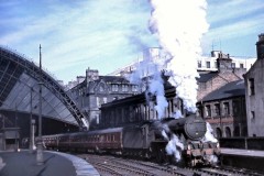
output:
M202 55L221 50L255 57L264 33L263 0L207 3ZM41 44L43 67L65 84L88 67L107 75L160 46L148 29L152 10L148 0L0 0L0 45L37 63Z

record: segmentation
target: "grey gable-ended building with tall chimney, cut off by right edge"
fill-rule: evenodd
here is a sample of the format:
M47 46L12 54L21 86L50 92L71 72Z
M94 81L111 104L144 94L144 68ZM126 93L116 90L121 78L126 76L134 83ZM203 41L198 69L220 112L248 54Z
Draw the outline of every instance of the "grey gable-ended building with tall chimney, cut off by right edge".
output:
M256 42L257 59L244 75L249 136L264 136L264 34Z

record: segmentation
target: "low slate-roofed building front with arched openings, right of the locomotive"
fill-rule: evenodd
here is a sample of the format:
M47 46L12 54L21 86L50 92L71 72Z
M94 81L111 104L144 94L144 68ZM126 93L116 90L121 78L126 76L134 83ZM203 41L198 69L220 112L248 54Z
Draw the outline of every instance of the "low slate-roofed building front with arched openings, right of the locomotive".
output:
M204 97L198 110L217 138L246 136L244 80L231 81Z

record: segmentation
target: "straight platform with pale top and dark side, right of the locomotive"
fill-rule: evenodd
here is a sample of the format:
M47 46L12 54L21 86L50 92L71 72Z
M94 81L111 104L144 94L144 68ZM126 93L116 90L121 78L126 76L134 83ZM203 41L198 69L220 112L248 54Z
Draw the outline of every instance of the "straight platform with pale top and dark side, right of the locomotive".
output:
M221 165L264 174L264 151L221 148Z

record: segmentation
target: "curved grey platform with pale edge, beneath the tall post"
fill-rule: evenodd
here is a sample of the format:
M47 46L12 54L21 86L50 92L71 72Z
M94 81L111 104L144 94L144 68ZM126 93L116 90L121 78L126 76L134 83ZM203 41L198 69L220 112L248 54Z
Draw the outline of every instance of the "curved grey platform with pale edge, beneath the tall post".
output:
M85 160L59 153L43 152L44 164L36 164L36 154L30 151L0 152L1 176L100 176Z

